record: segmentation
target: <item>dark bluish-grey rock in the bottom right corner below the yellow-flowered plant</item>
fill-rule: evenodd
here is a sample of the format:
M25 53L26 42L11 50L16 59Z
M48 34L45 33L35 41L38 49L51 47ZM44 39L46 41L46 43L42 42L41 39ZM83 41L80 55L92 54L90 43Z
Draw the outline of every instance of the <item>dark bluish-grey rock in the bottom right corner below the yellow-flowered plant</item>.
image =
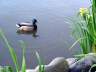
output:
M88 72L90 67L96 64L96 54L89 53L70 66L69 72Z

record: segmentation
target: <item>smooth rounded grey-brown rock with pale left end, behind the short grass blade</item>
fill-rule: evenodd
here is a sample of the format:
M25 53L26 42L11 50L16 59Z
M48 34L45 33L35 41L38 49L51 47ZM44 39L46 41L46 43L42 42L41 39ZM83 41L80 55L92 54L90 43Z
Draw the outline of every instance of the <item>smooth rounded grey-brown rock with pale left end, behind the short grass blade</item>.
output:
M45 66L45 72L68 72L69 66L64 57L57 57ZM26 72L39 72L39 66L35 69L28 69Z

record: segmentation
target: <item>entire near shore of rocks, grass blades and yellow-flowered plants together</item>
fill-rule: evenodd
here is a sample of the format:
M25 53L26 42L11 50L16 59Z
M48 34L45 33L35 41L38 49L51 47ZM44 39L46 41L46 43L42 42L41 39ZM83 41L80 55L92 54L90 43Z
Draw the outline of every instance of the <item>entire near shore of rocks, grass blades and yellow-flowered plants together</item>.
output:
M57 57L48 65L44 65L39 53L35 51L38 60L38 66L35 69L26 68L26 44L20 41L22 48L22 66L18 63L17 54L10 42L6 38L2 29L0 37L7 46L15 70L11 66L0 66L0 72L95 72L96 71L96 0L90 0L91 7L80 8L77 19L73 21L72 35L76 39L72 49L77 43L81 48L81 54L75 55L74 58L65 59Z

